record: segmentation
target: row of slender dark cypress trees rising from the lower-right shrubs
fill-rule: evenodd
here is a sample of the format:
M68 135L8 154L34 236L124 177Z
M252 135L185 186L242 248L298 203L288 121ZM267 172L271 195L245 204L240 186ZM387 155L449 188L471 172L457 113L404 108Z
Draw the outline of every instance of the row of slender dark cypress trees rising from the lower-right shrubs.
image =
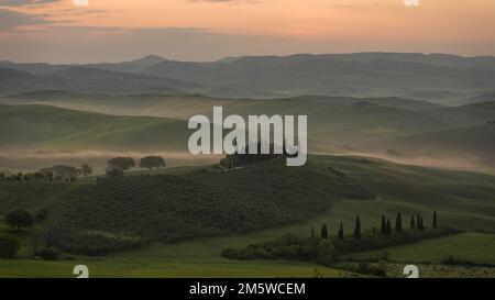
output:
M432 219L432 227L433 230L438 229L438 216L437 216L437 211L433 211L433 219ZM410 230L418 230L418 231L425 231L425 223L424 223L424 219L421 214L417 214L416 218L415 215L413 215L410 218L410 225L409 225ZM403 232L403 215L400 212L397 213L396 219L395 219L395 231L397 233L402 233ZM385 215L382 215L382 225L381 225L381 230L380 230L381 234L385 234L385 235L391 235L392 234L392 222L389 219L386 219ZM376 230L375 227L373 227L373 234L376 234ZM311 237L315 237L315 227L311 226ZM323 224L321 226L321 231L320 231L320 236L321 238L328 238L328 226L327 224ZM354 232L353 232L353 236L356 240L361 240L361 219L358 215L355 218L355 224L354 224ZM343 223L342 221L340 221L340 226L339 230L337 231L337 237L339 240L343 240L344 237L344 231L343 231Z

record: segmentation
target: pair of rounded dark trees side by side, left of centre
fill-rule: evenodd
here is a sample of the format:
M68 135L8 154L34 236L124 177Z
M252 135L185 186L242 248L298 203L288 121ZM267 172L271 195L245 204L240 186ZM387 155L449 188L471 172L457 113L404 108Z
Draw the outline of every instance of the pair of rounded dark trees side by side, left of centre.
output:
M165 167L165 159L161 156L145 156L140 159L140 168L160 169ZM135 167L132 157L114 157L107 162L107 176L117 177L124 175L125 171Z

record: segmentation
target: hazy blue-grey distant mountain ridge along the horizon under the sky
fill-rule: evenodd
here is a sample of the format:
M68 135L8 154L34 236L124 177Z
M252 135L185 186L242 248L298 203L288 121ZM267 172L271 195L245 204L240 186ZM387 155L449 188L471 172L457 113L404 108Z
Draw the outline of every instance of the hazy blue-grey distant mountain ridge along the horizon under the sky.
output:
M48 84L44 80L18 80L10 87L13 91L36 90L40 86L52 89L59 85L57 80L62 80L56 76L57 73L81 68L113 74L97 76L98 81L91 85L86 78L84 81L88 85L79 86L77 82L80 76L67 73L65 79L75 84L73 88L62 82L64 89L128 95L163 90L224 98L282 98L304 95L402 97L450 103L493 92L495 86L495 57L462 57L448 54L296 54L227 57L207 63L177 62L148 55L131 62L88 65L0 62L0 68L48 78ZM129 74L135 76L132 81L140 84L119 81L131 78ZM157 78L165 80L158 85ZM144 85L145 80L151 82ZM113 84L107 85L107 81ZM33 88L30 89L30 86ZM6 91L6 88L0 88L0 93L8 92L10 91Z

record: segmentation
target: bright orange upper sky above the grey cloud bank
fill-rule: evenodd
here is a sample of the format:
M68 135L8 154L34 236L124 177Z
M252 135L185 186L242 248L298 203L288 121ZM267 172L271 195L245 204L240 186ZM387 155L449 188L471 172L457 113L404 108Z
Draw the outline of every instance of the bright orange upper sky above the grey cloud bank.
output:
M394 40L495 40L495 1L420 0L72 0L16 11L47 15L54 25L97 27L190 27L213 32L287 37L356 36Z

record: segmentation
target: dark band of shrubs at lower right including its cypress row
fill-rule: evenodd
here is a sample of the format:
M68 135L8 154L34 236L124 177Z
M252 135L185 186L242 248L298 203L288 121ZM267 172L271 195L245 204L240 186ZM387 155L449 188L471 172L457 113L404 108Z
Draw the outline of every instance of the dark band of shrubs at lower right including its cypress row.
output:
M439 227L436 211L431 220L432 230L428 231L420 214L414 216L415 225L414 227L411 226L411 230L403 230L402 218L402 214L397 213L394 224L395 230L391 220L382 218L385 221L382 222L384 224L383 231L378 233L374 230L372 234L370 232L363 234L361 219L356 216L352 234L345 235L343 222L340 222L337 235L330 236L328 225L323 224L319 234L316 233L315 226L311 226L310 236L298 236L294 233L287 233L282 237L254 243L245 248L226 248L222 251L222 256L231 259L293 259L331 266L345 254L410 244L424 238L435 238L459 233L453 227ZM373 273L377 276L384 275L383 270L366 270L362 273Z

